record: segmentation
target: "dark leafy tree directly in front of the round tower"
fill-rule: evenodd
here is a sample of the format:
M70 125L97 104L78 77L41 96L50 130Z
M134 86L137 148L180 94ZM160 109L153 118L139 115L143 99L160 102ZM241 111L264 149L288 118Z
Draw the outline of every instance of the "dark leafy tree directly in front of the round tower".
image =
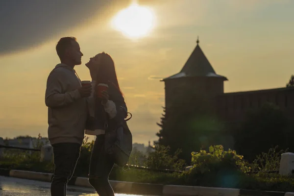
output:
M182 153L178 157L187 163L191 162L192 151L216 145L215 138L220 134L219 121L206 113L204 107L203 110L199 108L201 106L197 104L190 108L178 107L176 112L169 114L166 114L164 108L161 122L157 123L161 127L156 134L159 137L158 144L170 147L171 154L180 149Z

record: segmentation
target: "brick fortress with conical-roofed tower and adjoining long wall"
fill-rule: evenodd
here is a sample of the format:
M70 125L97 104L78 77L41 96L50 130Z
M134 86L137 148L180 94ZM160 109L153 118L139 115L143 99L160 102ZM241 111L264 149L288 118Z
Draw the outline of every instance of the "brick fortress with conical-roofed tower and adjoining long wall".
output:
M165 82L166 117L171 118L179 112L184 116L193 114L195 111L191 111L191 106L197 105L206 108L201 112L214 114L228 127L238 126L245 120L249 108L271 102L289 119L294 119L294 88L224 93L223 82L227 80L215 72L197 40L196 48L182 70L161 80Z

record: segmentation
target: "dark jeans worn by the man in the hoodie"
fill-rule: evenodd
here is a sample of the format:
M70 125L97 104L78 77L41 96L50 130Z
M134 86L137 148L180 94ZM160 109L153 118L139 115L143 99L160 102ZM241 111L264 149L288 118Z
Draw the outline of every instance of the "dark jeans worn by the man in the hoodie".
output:
M67 183L73 176L81 145L76 143L53 144L54 175L51 196L66 196Z

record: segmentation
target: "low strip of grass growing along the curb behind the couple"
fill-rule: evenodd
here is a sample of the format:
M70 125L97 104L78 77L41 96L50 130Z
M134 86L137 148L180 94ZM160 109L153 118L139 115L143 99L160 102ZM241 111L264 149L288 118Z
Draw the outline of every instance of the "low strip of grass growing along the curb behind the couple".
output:
M14 159L15 160L15 159ZM53 163L40 163L38 161L27 161L27 159L8 160L7 158L0 161L0 168L25 170L33 172L53 172ZM76 171L79 169L76 168ZM88 173L84 172L82 177L87 177ZM292 176L281 176L276 173L259 173L259 174L236 174L216 178L207 175L206 177L189 178L189 173L163 173L149 172L137 169L131 169L123 172L119 167L114 167L109 176L110 180L119 180L126 182L152 183L152 184L170 184L170 185L190 185L206 186L221 188L237 188L259 191L281 191L294 192L294 178ZM218 183L221 182L221 183Z

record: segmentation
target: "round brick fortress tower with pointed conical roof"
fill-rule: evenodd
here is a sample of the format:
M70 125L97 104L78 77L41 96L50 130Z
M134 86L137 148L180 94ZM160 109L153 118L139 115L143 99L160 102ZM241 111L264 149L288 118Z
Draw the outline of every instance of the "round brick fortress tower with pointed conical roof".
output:
M164 78L166 116L173 112L189 114L200 108L202 112L215 113L215 98L223 94L226 77L215 72L203 51L197 45L179 73Z

